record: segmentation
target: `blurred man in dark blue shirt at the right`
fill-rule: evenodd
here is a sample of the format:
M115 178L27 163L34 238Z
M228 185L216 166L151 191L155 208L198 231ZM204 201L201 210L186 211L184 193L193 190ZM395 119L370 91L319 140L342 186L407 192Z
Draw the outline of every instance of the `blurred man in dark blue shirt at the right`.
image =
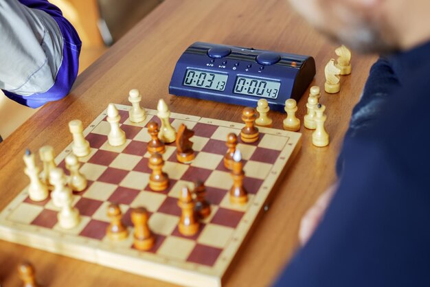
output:
M430 286L430 1L291 0L317 29L382 54L354 108L339 183L302 220L275 286Z

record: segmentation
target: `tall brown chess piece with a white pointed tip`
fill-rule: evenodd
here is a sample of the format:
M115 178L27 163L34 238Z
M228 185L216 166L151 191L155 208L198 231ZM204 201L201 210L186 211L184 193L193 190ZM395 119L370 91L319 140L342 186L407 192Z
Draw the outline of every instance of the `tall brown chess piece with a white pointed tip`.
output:
M233 159L233 171L231 172L233 186L230 189L230 202L233 204L245 205L248 201L248 193L245 187L243 187L245 172L243 172L242 154L240 154L240 150L234 152Z

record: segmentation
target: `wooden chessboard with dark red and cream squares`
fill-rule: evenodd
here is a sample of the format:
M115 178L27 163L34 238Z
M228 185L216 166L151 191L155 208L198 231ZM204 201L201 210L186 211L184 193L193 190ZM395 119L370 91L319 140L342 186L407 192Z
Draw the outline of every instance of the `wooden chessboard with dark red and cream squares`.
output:
M176 146L166 145L163 171L169 176L169 187L153 192L148 187L151 170L146 146L150 135L146 125L150 121L160 124L157 111L146 109L144 122L135 124L128 119L131 106L116 106L126 133L125 144L109 145L106 110L84 130L91 153L79 160L88 186L73 192L80 224L62 229L57 221L58 207L50 198L33 202L26 187L1 211L0 239L183 286L221 286L251 227L299 151L301 134L259 127L256 143L243 143L238 137L249 200L247 205L237 206L229 200L233 181L223 156L227 135L239 135L244 124L171 113L174 128L185 124L194 130L191 141L196 157L189 165L178 163ZM56 164L64 168L70 153L71 144L58 154ZM23 180L28 180L24 173ZM178 230L181 209L177 202L181 188L188 185L192 190L196 180L205 183L212 211L201 221L198 233L187 237ZM122 220L130 231L126 240L113 242L106 236L110 203L120 205ZM133 247L130 214L140 206L148 210L148 225L155 233L155 246L149 251Z

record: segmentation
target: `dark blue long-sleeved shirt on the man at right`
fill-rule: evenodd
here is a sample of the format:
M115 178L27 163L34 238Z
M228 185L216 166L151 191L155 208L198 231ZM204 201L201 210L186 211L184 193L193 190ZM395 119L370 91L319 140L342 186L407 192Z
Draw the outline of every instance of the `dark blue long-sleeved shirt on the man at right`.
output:
M379 91L387 100L348 131L339 190L275 286L430 286L429 55L427 43L389 56L392 85L371 74L376 95L354 112Z

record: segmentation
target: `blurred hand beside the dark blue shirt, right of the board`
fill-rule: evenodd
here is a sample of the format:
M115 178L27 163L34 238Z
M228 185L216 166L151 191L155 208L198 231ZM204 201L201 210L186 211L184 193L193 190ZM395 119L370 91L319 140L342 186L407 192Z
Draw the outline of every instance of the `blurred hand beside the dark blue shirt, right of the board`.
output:
M337 183L329 187L321 196L319 196L317 202L306 211L302 221L300 222L299 228L299 240L302 246L308 242L310 236L319 225L319 222L326 213L326 209L330 204L330 201L337 190Z

